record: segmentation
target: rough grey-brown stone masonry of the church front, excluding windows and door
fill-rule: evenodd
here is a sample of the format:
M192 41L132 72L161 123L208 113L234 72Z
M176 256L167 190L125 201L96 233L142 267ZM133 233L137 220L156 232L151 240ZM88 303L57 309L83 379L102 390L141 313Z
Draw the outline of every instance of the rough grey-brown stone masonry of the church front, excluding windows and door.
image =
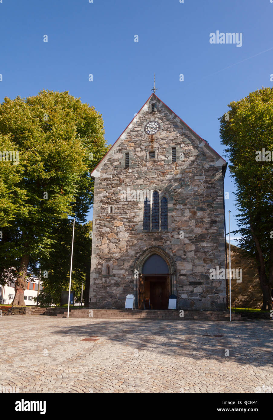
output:
M144 132L147 121L160 123L154 136ZM157 246L174 261L172 293L178 296L179 308L223 309L226 280L209 277L210 268L226 267L222 166L215 165L215 156L199 146L201 140L158 99L157 111L147 108L140 113L124 137L95 177L89 307L124 308L128 293L137 302L135 260ZM177 154L174 163L172 147ZM148 150L156 151L155 160L147 158ZM129 168L124 167L125 152L130 152ZM143 200L123 201L127 188L151 194L157 189L160 198L168 198L168 230L143 231ZM113 214L108 213L110 205Z

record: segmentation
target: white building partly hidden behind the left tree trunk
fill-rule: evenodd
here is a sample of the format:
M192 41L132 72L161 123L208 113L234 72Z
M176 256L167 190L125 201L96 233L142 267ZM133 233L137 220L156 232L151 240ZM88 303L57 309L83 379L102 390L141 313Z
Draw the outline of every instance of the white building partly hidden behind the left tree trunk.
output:
M24 291L24 301L26 305L36 305L33 298L37 297L38 293L38 283L39 278L31 275L28 273L30 277L28 277L28 284L27 289ZM11 304L15 296L15 281L11 283L11 286L5 284L5 286L0 286L0 304ZM40 282L40 291L43 289L42 281Z

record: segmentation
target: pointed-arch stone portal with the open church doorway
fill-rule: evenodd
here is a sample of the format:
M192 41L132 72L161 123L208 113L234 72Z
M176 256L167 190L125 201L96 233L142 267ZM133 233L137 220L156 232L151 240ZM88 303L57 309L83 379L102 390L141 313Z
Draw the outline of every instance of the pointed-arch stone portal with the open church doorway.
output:
M134 278L139 309L145 299L150 299L152 309L167 309L169 295L176 293L176 268L165 249L145 249L135 260Z

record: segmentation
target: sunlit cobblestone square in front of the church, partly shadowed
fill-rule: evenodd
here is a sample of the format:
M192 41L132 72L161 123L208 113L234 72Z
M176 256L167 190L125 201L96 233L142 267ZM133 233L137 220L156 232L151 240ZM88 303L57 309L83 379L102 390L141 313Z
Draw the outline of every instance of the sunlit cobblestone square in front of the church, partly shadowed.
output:
M273 386L270 320L12 315L0 318L0 327L0 386L19 392L256 392Z

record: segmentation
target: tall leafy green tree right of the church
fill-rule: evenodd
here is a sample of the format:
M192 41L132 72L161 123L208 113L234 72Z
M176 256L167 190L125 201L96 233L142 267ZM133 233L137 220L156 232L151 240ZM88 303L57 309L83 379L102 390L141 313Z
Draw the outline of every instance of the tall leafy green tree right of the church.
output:
M237 102L220 119L220 136L231 162L239 210L240 246L255 254L263 295L272 308L273 288L273 88ZM244 279L243 279L244 281Z

